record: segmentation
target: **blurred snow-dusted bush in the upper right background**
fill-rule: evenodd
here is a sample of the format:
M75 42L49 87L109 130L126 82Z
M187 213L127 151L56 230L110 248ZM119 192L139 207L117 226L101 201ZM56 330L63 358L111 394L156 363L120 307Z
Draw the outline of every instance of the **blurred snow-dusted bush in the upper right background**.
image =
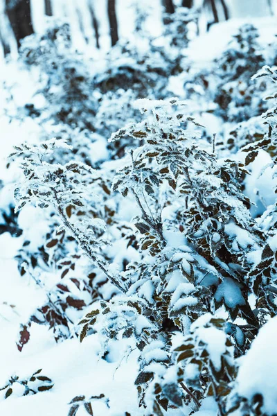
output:
M247 121L267 110L267 103L262 100L267 88L265 80L251 80L266 62L259 36L252 24L241 26L228 49L211 67L190 70L184 83L186 98L198 97L202 107L229 123Z

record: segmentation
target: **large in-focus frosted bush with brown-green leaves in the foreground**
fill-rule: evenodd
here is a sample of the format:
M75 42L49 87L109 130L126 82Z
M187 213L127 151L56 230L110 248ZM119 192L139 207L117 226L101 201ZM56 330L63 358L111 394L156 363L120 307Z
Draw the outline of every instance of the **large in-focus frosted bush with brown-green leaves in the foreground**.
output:
M17 149L17 157L24 153L25 176L16 191L19 209L26 203L53 207L62 228L116 288L118 295L97 302L80 321L80 337L97 331L102 357L113 343L122 354L123 345L128 354L136 350L143 414L196 411L204 397L213 397L224 415L238 374L235 357L249 349L273 310L275 291L268 289L274 279L258 279L257 292L256 278L274 255L271 240L251 218L240 185L244 165L217 158L215 144L201 139L201 130L197 134L201 126L184 115L183 103L139 100L136 106L145 119L111 135L111 142L138 141L112 185L139 213L130 228L140 253L135 261L120 270L107 257L105 246L116 244L116 234L105 231L105 198L98 198L91 215L98 171L80 162L50 164L48 154L55 155L58 142ZM69 207L81 207L82 214L69 215ZM49 244L57 243L58 238ZM270 295L262 302L261 293ZM67 306L84 306L69 296L64 295ZM62 306L62 299L55 305Z

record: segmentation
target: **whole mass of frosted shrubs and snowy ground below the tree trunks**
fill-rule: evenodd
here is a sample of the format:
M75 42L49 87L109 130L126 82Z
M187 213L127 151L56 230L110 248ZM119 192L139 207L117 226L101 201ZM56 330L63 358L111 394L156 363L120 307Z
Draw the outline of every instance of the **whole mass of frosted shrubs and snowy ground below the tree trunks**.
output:
M277 413L276 43L200 65L199 10L154 37L143 4L107 52L53 18L7 59L5 415Z

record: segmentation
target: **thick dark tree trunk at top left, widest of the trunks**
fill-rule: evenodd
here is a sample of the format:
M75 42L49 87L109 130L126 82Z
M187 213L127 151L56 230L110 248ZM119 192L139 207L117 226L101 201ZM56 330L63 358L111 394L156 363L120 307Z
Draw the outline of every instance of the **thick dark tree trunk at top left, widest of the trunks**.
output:
M20 41L24 37L34 33L30 15L30 0L6 0L6 12L19 47Z

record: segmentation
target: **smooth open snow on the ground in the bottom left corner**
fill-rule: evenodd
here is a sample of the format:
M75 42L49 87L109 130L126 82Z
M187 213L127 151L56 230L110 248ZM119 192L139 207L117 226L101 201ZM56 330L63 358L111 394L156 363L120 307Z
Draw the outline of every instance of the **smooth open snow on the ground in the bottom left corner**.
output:
M39 333L37 334L39 335ZM30 341L31 343L31 341ZM91 336L80 344L79 340L66 340L64 343L48 346L48 349L38 350L37 352L23 353L21 358L19 353L6 354L5 363L1 368L1 382L5 383L5 369L9 368L15 374L28 376L30 372L35 372L43 367L43 373L53 379L55 385L53 390L44 392L40 395L15 397L13 395L6 401L1 402L1 411L7 416L15 413L21 415L37 415L37 408L44 415L66 415L69 411L67 405L73 397L77 395L100 395L106 394L110 398L111 406L116 409L112 411L98 401L93 402L93 414L101 416L118 415L129 409L129 412L139 416L141 413L132 408L132 397L134 391L132 372L130 363L123 363L118 370L116 365L107 363L103 360L98 361L96 353L99 350L96 336ZM115 371L116 370L116 371ZM93 374L93 376L92 376ZM9 374L10 375L10 374ZM111 380L107 385L107 378ZM117 403L116 397L124 389L125 395ZM114 406L116 401L116 406ZM80 413L81 414L81 413Z

